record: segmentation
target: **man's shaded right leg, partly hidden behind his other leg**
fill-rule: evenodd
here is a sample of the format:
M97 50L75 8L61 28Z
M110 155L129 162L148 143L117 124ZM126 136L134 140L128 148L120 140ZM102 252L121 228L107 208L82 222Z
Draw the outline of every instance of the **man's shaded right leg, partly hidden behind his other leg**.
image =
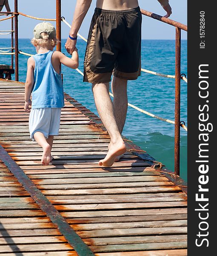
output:
M126 121L126 114L127 114L127 108L128 108L127 80L120 79L114 76L111 83L111 90L112 90L112 93L114 94L114 100L113 100L114 115L116 118L117 127L120 131L120 134L122 134L123 127ZM123 157L123 154L116 157L114 161L118 162L121 157Z

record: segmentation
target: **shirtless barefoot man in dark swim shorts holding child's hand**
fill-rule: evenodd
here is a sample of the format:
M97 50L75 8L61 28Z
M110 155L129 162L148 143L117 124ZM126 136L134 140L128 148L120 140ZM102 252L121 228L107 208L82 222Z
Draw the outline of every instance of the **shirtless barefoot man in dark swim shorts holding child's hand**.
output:
M92 0L77 0L74 19L66 49L71 54L76 45L77 32ZM158 0L171 15L168 0ZM111 166L126 152L121 133L128 107L127 81L140 76L141 61L141 12L138 0L97 0L91 21L86 56L84 80L92 83L94 100L100 118L111 142L109 151L100 166ZM114 101L109 96L112 79Z

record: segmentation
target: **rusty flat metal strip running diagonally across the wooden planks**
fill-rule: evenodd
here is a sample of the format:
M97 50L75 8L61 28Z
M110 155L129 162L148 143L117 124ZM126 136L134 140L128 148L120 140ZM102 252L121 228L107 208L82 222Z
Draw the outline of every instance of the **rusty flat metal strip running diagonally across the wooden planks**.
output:
M57 225L58 230L69 244L74 248L78 256L94 256L95 254L89 249L85 242L77 235L73 228L66 222L60 212L51 204L51 202L43 195L35 186L29 177L23 172L20 166L9 156L7 151L0 145L0 159L7 166L11 173L17 178L18 182L23 185L31 198L40 206L43 212Z

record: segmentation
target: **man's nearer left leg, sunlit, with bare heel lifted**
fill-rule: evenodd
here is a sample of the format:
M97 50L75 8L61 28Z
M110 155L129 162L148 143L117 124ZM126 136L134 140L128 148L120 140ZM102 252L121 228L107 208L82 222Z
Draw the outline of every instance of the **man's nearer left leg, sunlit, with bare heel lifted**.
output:
M93 84L92 89L97 111L111 138L109 151L106 157L99 161L99 165L112 166L116 157L126 152L126 146L115 119L114 106L109 96L109 83Z

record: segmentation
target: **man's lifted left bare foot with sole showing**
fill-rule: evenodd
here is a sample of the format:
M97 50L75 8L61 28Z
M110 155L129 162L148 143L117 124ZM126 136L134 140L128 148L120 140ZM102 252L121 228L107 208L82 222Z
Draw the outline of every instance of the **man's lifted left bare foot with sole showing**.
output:
M109 144L109 151L103 160L99 161L100 166L112 166L116 158L120 157L126 152L126 145L122 141L115 144ZM120 159L120 158L119 158Z

